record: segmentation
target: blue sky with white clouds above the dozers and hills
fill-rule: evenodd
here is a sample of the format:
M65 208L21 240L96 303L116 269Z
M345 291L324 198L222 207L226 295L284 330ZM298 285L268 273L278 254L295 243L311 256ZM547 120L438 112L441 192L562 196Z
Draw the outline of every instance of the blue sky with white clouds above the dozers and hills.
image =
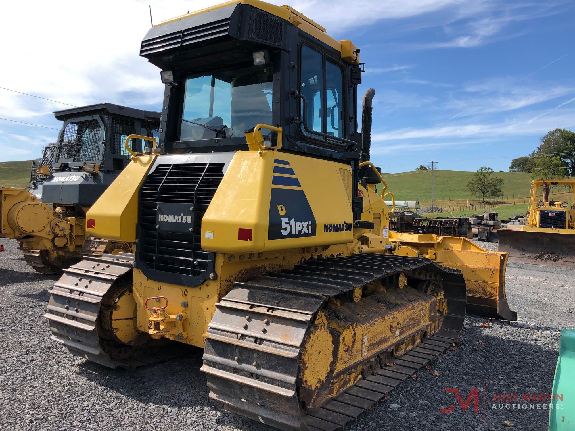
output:
M17 3L0 6L0 13L16 16L30 7ZM109 101L159 109L158 70L138 57L149 2L58 3L62 13L49 22L43 16L54 15L53 3L38 2L25 31L18 20L0 28L2 40L12 40L0 54L13 59L0 70L0 87L78 106ZM151 2L156 21L214 3ZM547 131L575 129L572 1L312 0L292 6L361 48L360 91L376 90L372 160L384 172L413 170L431 159L444 170L507 170ZM90 20L79 19L86 14ZM97 43L87 46L91 35ZM65 107L0 88L0 118L58 129L51 112ZM0 120L0 161L39 157L56 136L57 130Z

